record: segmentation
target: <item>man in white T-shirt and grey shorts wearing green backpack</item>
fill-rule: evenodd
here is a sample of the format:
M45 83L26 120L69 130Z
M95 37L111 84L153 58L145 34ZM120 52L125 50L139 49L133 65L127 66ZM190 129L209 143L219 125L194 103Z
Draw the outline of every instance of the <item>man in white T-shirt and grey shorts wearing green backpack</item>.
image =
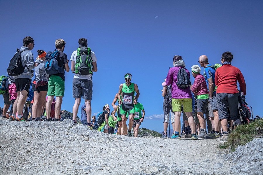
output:
M87 126L92 129L91 122L91 99L92 99L92 75L97 69L97 58L95 53L88 47L88 41L85 38L79 39L79 48L71 55L71 71L75 73L73 77L73 122L76 123L76 117L81 102L81 97L85 100Z

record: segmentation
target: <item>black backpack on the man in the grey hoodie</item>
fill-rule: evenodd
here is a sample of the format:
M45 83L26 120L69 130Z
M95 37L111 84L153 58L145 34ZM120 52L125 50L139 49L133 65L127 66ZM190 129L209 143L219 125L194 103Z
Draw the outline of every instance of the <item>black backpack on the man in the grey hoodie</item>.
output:
M25 50L22 50L21 52L19 51L19 49L16 50L17 53L10 60L9 66L7 68L8 76L18 76L24 72L26 67L26 65L25 66L22 65L22 60L21 60L21 53Z

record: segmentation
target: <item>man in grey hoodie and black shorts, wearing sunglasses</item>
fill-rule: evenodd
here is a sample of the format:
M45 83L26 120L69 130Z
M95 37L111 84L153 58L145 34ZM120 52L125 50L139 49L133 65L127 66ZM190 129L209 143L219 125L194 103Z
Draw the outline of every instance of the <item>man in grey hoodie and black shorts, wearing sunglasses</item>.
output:
M33 54L30 51L34 48L34 45L33 38L27 36L23 39L23 46L20 48L22 65L26 67L22 74L15 76L17 99L13 105L13 114L11 118L15 118L17 112L17 117L15 119L17 121L25 121L22 117L22 112L33 76L32 69L35 67Z

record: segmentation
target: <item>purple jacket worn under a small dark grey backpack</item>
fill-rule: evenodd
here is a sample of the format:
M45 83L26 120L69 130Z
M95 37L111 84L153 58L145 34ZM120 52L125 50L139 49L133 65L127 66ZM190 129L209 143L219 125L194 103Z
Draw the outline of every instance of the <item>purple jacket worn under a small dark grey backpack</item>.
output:
M178 88L178 86L176 85L177 74L180 68L183 68L183 67L172 67L168 72L165 83L166 85L172 84L172 98L174 99L192 98L190 87L186 89L181 89L181 88ZM185 70L190 78L190 72L187 69Z

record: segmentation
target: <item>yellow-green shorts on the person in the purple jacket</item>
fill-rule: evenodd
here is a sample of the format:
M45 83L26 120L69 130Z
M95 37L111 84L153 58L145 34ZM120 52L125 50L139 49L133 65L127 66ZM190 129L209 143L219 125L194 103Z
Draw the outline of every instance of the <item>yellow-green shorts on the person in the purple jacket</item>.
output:
M192 99L172 99L173 112L181 112L181 106L183 104L184 112L193 112Z

